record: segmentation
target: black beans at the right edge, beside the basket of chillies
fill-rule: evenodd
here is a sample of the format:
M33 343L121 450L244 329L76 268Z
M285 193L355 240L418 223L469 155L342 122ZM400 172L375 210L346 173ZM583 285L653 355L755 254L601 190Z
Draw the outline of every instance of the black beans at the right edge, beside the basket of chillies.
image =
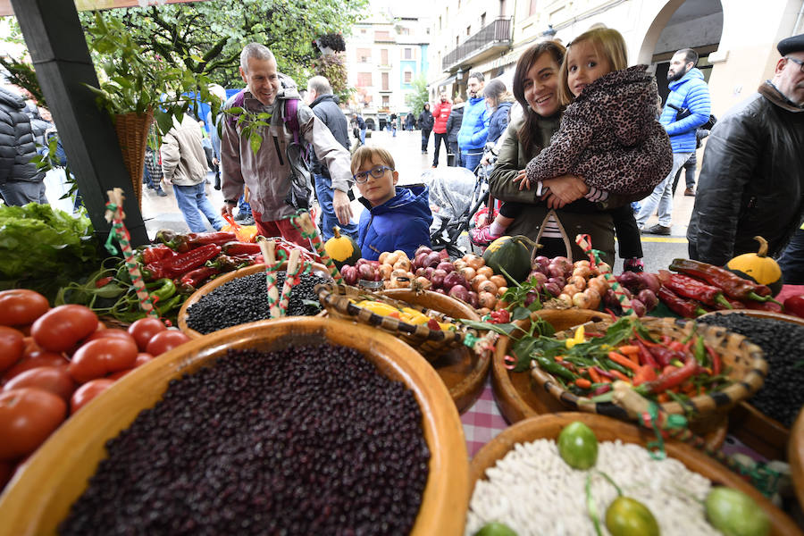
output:
M792 426L804 405L804 326L757 318L747 314L715 314L698 322L722 326L740 333L762 348L768 364L765 385L749 399L759 411Z

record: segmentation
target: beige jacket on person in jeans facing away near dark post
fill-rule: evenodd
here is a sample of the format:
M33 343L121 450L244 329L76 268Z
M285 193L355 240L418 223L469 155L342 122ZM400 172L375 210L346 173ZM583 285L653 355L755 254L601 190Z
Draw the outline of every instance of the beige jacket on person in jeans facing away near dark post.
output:
M173 128L162 138L162 172L177 186L194 186L206 179L206 155L198 121L184 115L173 118Z

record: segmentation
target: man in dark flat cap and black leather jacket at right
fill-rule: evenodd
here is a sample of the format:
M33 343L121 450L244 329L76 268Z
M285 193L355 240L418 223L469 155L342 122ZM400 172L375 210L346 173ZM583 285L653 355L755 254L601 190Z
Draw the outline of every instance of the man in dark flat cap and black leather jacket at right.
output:
M687 240L690 257L722 265L777 256L804 216L804 34L776 48L774 78L734 106L709 134Z

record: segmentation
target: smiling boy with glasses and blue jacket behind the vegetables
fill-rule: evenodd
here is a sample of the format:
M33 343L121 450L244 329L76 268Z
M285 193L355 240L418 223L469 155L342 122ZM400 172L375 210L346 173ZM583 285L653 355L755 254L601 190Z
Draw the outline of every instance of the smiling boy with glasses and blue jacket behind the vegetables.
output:
M397 186L394 159L381 147L363 146L352 155L352 173L365 210L360 215L357 245L364 259L401 249L413 258L416 248L430 246L429 190L423 184Z

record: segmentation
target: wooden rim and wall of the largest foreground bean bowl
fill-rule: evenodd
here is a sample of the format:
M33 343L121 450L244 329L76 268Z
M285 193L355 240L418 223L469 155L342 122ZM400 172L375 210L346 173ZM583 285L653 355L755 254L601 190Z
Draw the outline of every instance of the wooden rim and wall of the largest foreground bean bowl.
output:
M381 331L329 318L289 317L216 331L138 367L73 415L46 440L0 496L0 536L54 534L105 457L105 442L140 410L162 398L168 382L192 373L230 348L263 351L297 344L356 348L381 374L404 381L423 414L430 474L413 534L463 533L468 504L468 455L455 405L431 365Z

